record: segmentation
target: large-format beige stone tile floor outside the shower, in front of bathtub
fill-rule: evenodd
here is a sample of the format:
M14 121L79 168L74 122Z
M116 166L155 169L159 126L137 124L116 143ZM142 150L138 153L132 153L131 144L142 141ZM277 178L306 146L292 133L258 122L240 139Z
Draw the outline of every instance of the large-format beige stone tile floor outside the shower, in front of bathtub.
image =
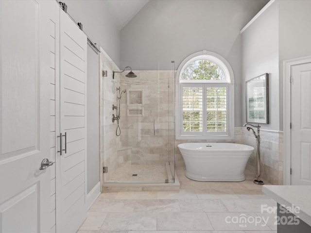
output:
M276 233L276 202L253 183L195 182L176 168L179 192L102 193L77 233Z

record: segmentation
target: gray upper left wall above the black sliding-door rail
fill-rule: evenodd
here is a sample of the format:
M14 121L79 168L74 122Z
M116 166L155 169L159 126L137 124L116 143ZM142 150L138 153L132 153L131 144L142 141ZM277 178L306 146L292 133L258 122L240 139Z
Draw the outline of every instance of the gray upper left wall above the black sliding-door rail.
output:
M66 0L68 14L83 24L83 31L100 45L112 60L120 61L120 30L103 0Z

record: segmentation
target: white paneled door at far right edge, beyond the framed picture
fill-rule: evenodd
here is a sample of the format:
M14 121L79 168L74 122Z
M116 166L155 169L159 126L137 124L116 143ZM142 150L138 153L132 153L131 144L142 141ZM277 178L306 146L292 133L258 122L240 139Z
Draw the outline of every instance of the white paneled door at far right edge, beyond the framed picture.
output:
M311 185L311 63L291 70L291 184Z

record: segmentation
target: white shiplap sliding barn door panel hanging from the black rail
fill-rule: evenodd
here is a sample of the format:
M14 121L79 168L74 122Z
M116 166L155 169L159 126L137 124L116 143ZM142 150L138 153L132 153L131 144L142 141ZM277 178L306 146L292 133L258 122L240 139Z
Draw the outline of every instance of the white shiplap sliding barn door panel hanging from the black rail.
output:
M61 232L76 232L86 217L86 35L60 12ZM65 136L66 133L66 136ZM58 199L59 200L59 199Z

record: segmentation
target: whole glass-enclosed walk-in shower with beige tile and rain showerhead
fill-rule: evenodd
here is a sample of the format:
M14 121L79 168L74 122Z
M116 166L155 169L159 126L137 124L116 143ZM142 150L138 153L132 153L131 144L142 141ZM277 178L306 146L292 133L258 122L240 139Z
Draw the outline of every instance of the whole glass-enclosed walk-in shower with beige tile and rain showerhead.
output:
M102 184L174 183L174 62L157 62L157 70L124 64L135 74L102 64Z

